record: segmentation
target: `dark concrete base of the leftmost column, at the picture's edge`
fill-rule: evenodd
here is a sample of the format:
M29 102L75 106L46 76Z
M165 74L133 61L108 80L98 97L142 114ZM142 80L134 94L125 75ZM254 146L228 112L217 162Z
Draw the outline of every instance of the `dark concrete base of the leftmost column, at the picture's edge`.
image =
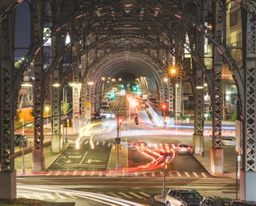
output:
M0 172L0 199L16 199L16 170Z

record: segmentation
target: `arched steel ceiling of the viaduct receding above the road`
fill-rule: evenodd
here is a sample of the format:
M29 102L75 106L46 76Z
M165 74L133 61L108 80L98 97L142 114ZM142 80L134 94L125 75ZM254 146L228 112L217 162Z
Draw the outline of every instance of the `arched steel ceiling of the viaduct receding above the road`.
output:
M123 80L144 76L159 84L172 63L171 55L179 50L176 42L183 44L189 31L174 16L176 9L195 14L202 2L91 0L73 5L59 1L62 12L51 30L69 34L71 42L86 42L81 47L94 59L87 65L87 73L93 73L96 81L101 76Z

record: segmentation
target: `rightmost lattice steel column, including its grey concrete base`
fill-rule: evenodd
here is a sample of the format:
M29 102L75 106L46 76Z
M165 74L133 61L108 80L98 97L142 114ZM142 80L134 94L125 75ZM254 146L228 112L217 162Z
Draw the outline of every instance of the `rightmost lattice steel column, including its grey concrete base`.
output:
M243 120L243 169L240 177L240 198L256 201L256 16L244 12L244 120Z

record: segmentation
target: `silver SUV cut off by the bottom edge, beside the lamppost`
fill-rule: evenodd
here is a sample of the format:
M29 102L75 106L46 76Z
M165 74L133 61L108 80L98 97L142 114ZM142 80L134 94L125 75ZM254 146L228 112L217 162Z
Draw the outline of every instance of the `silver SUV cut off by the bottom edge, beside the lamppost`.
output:
M203 197L196 190L170 189L165 196L166 206L199 206Z

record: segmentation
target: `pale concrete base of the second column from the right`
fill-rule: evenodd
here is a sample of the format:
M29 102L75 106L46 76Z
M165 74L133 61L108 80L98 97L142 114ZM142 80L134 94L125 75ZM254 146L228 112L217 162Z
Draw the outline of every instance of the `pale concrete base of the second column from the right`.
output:
M224 172L223 149L211 148L211 171L215 175L222 175Z

